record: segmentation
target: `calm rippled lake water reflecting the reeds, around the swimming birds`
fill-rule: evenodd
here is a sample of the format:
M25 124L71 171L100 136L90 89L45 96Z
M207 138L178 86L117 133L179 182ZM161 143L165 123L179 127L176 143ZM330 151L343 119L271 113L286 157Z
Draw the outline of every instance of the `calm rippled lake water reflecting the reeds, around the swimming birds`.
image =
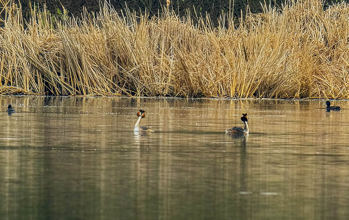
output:
M349 219L348 101L0 103L1 219ZM250 134L225 134L245 112Z

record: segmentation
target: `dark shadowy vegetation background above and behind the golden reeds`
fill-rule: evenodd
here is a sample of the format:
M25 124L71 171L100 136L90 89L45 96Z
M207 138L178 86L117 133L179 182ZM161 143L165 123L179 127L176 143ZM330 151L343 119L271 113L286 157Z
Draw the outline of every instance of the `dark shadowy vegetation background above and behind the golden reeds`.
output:
M338 3L343 0L325 0L324 7L328 7L333 3ZM347 0L349 1L349 0ZM15 0L17 3L18 0ZM23 18L26 19L30 15L30 7L28 0L21 1L22 10L23 10ZM104 1L102 1L103 3ZM138 13L144 12L147 9L147 12L150 15L157 15L161 12L161 7L166 6L166 0L109 0L110 4L117 9L117 11L125 9L125 3L127 7L131 10L135 10ZM74 17L81 17L81 13L83 12L83 7L87 8L88 12L91 11L99 11L99 3L98 0L36 0L31 1L31 5L38 4L39 8L46 8L50 10L51 14L59 13L58 10L62 11L62 6L68 10L69 15ZM273 0L262 2L262 4L267 4L282 8L282 5L285 4L285 0ZM291 0L286 0L287 4L291 4ZM247 8L247 5L249 6ZM229 7L231 6L231 7ZM231 8L231 13L235 17L241 17L241 15L245 15L246 11L251 11L251 13L261 13L262 6L260 0L171 0L170 9L175 11L177 15L184 16L189 9L190 13L194 16L194 8L196 13L201 13L205 16L206 13L210 15L211 20L216 24L217 18L223 13L229 13L229 8ZM58 10L57 10L58 9Z

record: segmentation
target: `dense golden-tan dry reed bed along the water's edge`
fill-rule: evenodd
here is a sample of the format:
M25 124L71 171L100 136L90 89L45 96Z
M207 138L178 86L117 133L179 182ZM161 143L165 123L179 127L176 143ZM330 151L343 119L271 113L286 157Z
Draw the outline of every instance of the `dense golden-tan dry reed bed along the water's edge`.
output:
M349 5L265 8L239 25L117 13L79 21L4 7L0 91L53 95L349 98ZM204 22L208 21L208 22ZM227 27L228 26L228 27Z

